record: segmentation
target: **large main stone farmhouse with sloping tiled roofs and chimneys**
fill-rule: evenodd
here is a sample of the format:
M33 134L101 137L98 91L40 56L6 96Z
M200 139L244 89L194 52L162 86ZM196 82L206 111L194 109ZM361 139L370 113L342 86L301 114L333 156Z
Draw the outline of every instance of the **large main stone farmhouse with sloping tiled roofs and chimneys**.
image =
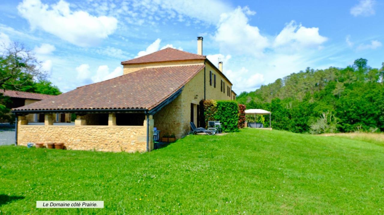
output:
M181 138L199 126L202 99L233 100L232 83L203 52L166 48L121 62L123 75L13 109L17 144L61 140L68 149L151 151L154 127ZM73 126L53 125L53 114L75 113ZM44 114L44 125L28 125L27 114ZM57 141L56 141L57 142Z

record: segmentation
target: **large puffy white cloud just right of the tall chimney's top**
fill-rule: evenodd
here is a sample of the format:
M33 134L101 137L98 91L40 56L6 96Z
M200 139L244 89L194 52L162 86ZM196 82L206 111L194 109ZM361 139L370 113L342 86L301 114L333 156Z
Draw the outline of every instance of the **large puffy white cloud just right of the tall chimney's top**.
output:
M249 14L248 10L245 12ZM262 55L269 45L267 37L260 34L257 26L248 23L248 17L241 7L220 15L214 40L218 42L220 52L225 54Z

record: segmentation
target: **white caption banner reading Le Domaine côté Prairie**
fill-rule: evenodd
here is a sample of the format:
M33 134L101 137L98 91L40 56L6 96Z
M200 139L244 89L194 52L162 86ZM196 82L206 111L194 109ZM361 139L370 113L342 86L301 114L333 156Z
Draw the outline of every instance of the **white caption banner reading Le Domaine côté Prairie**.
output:
M36 201L36 208L104 208L104 201Z

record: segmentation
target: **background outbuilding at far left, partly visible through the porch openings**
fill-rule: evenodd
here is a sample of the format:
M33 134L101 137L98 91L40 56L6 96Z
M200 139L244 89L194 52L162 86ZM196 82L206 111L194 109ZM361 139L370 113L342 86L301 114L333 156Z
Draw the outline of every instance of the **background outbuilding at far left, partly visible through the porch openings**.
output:
M43 99L54 98L54 95L40 94L40 93L28 93L16 90L1 90L0 93L3 96L8 96L11 100L10 107L18 108L28 104L32 104L36 101ZM28 122L44 122L44 114L28 114L25 116ZM55 113L53 115L53 122L70 122L71 114Z

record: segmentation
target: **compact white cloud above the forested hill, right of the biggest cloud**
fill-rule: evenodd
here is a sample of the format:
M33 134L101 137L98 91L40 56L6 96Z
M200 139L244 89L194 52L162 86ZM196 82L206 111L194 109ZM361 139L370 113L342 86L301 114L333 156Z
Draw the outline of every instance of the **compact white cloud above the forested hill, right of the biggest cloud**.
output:
M273 47L289 46L295 48L319 46L327 37L319 34L319 28L306 28L291 21L275 37Z

